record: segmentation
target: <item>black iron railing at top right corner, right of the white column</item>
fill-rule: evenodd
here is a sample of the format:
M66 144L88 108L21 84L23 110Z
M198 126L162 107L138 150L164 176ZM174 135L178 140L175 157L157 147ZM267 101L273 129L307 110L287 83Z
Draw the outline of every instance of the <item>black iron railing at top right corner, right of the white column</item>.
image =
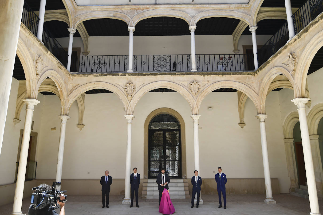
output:
M293 15L295 34L323 11L323 0L307 0Z

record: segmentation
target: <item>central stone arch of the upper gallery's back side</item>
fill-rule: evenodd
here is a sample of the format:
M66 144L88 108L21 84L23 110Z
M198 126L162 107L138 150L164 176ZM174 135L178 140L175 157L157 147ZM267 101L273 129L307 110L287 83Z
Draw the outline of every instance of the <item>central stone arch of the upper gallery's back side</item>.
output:
M136 15L134 15L131 19L133 22L134 27L137 25L137 23L143 19L148 19L151 17L158 17L158 16L169 16L169 17L176 17L183 19L187 22L188 25L190 25L192 16L188 13L185 13L180 10L173 10L173 9L153 9L149 11L143 11Z

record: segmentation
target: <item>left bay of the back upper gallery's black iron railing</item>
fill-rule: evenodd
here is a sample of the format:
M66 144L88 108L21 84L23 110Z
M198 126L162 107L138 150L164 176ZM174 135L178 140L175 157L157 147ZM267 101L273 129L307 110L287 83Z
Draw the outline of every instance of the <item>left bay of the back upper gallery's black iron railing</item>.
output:
M71 72L127 72L128 55L73 56Z

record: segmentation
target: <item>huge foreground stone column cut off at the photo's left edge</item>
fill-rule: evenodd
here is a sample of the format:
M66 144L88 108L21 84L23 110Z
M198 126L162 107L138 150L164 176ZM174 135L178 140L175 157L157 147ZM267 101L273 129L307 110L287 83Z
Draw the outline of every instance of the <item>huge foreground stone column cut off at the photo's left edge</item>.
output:
M0 7L0 154L23 6L24 0L7 0Z

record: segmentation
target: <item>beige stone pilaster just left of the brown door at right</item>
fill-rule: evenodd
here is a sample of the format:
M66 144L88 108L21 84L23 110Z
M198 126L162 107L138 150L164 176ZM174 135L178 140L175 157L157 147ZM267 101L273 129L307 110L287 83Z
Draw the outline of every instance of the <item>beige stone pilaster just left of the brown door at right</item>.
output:
M294 191L295 188L298 188L298 178L297 178L297 167L295 159L295 148L294 148L294 139L286 138L285 142L285 153L287 161L287 171L288 177L290 178L290 188L289 191Z

